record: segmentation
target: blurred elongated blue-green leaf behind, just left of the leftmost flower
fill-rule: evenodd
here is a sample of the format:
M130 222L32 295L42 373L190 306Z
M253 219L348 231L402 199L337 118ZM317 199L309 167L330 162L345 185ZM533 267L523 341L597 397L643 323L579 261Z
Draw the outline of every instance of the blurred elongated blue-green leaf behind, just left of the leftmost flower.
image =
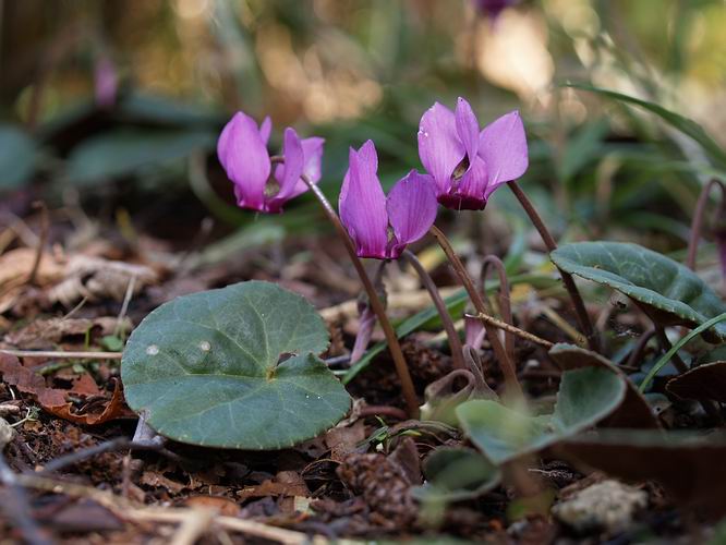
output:
M120 130L89 138L69 158L69 182L88 185L98 181L158 168L214 146L208 131Z

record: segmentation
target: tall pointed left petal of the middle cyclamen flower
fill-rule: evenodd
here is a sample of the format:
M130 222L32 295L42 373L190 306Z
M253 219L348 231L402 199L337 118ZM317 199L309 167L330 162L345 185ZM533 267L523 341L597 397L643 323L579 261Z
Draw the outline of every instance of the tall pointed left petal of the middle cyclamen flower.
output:
M378 157L373 142L350 149L350 166L340 190L340 220L360 257L386 258L388 216L386 195L376 174Z

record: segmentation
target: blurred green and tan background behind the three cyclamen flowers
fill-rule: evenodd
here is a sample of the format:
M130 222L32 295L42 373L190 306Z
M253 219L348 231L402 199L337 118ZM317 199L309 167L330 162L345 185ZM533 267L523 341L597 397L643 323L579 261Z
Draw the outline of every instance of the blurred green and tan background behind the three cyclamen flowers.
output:
M560 237L678 250L725 168L725 26L723 0L0 0L2 221L43 199L180 247L327 229L310 196L237 209L215 154L234 111L269 114L274 150L286 125L324 136L336 199L348 146L373 138L390 184L422 112L464 96L482 124L521 110L522 184ZM499 191L449 220L504 253L518 214Z

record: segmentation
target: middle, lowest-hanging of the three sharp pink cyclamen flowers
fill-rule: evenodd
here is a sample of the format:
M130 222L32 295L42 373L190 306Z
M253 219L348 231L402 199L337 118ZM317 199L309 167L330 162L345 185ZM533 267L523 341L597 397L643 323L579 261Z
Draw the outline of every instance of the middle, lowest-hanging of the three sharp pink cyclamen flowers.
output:
M373 142L350 149L350 166L340 191L340 220L359 257L395 259L436 219L436 193L429 175L415 170L384 194Z

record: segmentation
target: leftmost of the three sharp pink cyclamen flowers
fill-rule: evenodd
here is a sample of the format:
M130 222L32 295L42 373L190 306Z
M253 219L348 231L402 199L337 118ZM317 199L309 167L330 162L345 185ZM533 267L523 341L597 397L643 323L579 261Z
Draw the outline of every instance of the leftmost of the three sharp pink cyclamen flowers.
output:
M307 191L302 174L317 183L320 179L324 140L317 136L301 140L294 129L287 128L282 142L285 162L275 168L267 152L273 123L265 118L257 128L254 119L237 112L219 136L217 156L234 183L237 204L268 214L282 211L291 198Z

